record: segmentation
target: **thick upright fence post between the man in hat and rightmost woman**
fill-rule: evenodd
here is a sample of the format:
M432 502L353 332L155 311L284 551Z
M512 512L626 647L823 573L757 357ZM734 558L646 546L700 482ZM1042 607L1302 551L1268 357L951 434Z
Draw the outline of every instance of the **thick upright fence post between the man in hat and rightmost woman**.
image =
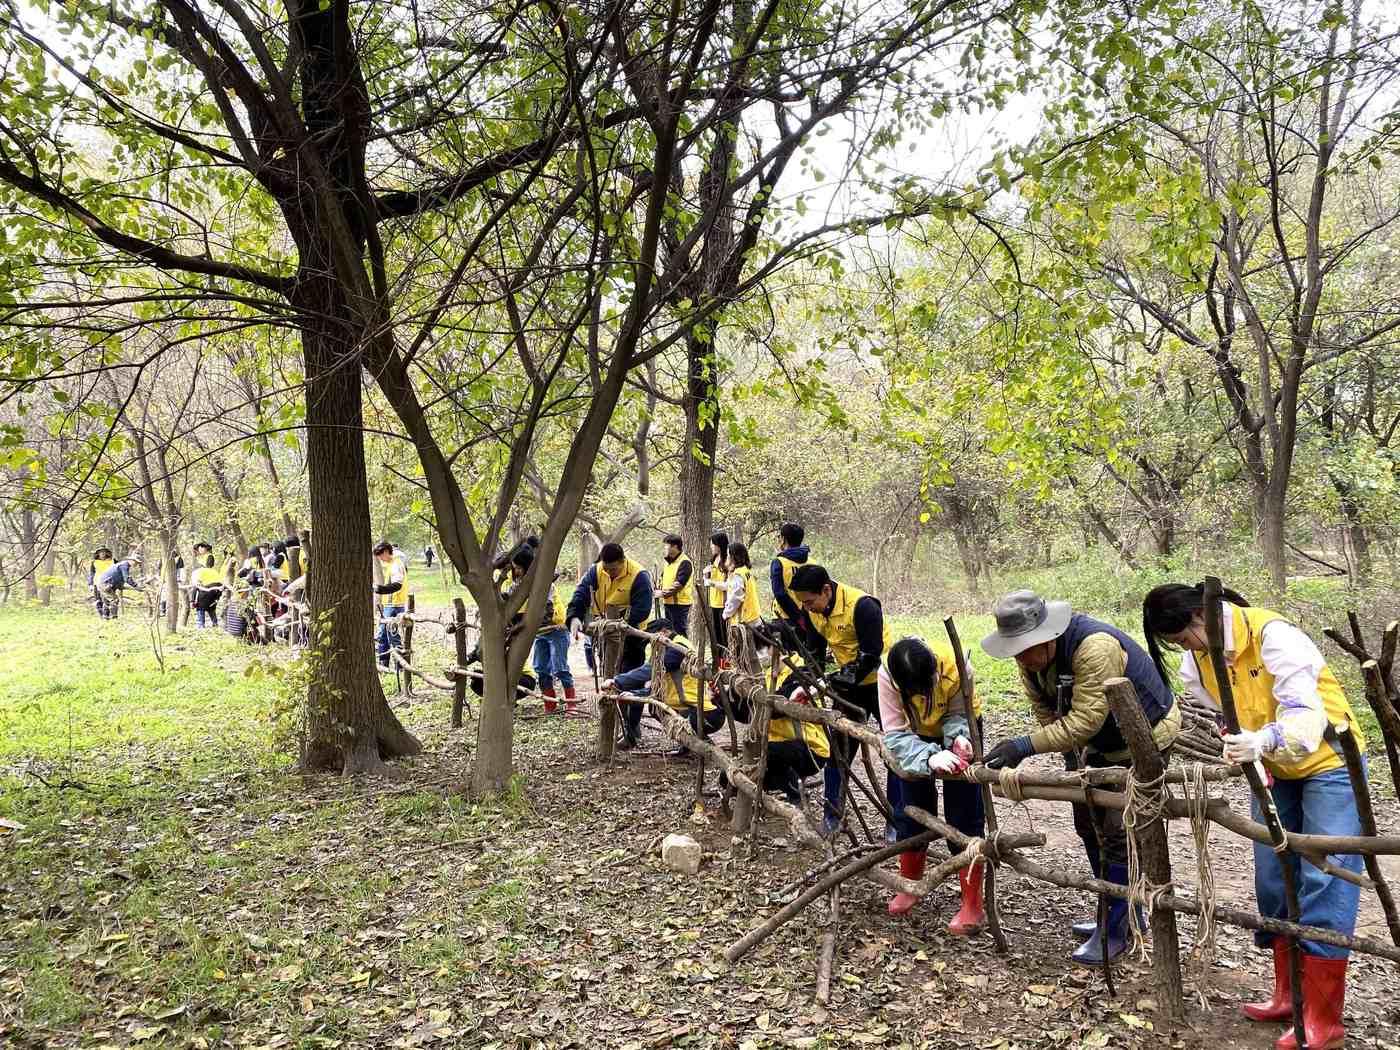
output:
M1123 739L1133 752L1133 773L1142 784L1156 784L1165 790L1162 774L1165 763L1152 739L1152 727L1147 724L1137 690L1126 678L1110 678L1103 683L1113 718L1123 732ZM1142 874L1154 888L1172 885L1172 854L1166 844L1166 823L1161 813L1145 827L1133 827ZM1133 917L1128 921L1135 921ZM1176 913L1168 909L1152 909L1152 977L1156 980L1158 1002L1173 1021L1186 1016L1182 998L1182 946L1176 938Z

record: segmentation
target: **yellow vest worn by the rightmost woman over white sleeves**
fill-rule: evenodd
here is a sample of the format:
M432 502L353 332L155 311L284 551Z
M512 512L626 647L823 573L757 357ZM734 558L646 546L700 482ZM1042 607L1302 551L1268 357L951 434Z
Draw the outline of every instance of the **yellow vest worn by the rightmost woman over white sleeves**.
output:
M1264 624L1287 617L1268 609L1242 609L1235 605L1231 609L1233 610L1235 652L1233 655L1226 652L1225 658L1229 661L1229 683L1231 692L1235 694L1235 711L1239 714L1239 727L1242 729L1261 729L1278 720L1278 701L1274 699L1274 676L1264 666L1261 652ZM1210 654L1191 652L1190 655L1196 661L1196 671L1201 676L1201 685L1205 686L1205 692L1219 703L1221 693L1215 682L1215 666L1211 664ZM1351 731L1357 735L1357 746L1365 752L1366 742L1361 736L1361 727L1357 724L1357 717L1351 713L1351 704L1347 703L1347 697L1341 692L1341 683L1337 682L1337 676L1331 673L1331 668L1329 666L1323 666L1322 675L1317 676L1317 693L1322 696L1327 722L1330 725L1340 725L1341 722L1351 725ZM1327 773L1347 764L1341 755L1337 753L1337 749L1327 741L1319 743L1312 755L1305 755L1301 759L1294 759L1281 750L1261 757L1268 771L1281 780L1302 780L1303 777Z

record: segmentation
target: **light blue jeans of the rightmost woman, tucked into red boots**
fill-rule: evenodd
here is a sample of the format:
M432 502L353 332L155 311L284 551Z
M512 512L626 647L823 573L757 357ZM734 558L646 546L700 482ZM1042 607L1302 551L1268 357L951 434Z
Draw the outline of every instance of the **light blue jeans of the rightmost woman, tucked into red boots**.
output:
M1334 769L1303 780L1274 778L1271 788L1274 808L1285 832L1302 834L1361 834L1361 818L1357 815L1357 797L1351 791L1351 777L1345 769ZM1264 815L1259 802L1252 805L1253 816L1260 823ZM1278 867L1273 847L1254 843L1254 896L1259 897L1259 914L1268 918L1288 918L1288 903L1284 897L1284 875ZM1351 937L1357 928L1357 906L1361 902L1361 888L1327 875L1312 864L1282 854L1281 860L1294 871L1298 885L1298 906L1303 925L1319 925ZM1333 854L1331 864L1347 871L1359 872L1361 857L1355 854ZM1274 942L1273 934L1259 931L1254 944L1267 948ZM1334 948L1316 941L1299 941L1308 955L1324 959L1345 959L1345 948Z

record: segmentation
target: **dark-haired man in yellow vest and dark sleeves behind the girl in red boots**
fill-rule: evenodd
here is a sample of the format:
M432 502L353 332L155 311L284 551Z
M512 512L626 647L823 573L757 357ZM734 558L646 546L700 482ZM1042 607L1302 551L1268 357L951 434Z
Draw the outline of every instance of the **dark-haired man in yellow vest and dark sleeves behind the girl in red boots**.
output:
M879 720L879 687L876 685L881 661L889 648L889 631L879 599L850 584L839 584L822 566L801 566L792 573L788 588L792 601L806 612L812 634L830 650L836 673L827 685L847 706L844 714L864 721L869 715ZM841 736L837 746L846 764L855 753L855 741ZM834 834L841 825L841 797L844 788L841 762L826 767L826 809L822 830Z

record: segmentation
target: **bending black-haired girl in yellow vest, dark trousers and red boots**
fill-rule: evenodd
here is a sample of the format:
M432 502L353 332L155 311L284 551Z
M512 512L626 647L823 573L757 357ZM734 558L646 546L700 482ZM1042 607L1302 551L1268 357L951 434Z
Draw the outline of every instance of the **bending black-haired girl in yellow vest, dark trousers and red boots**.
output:
M972 668L969 666L969 675ZM920 638L900 638L889 647L885 665L879 669L879 714L885 746L890 749L899 767L906 773L925 776L938 773L953 776L967 769L972 760L972 739L967 735L967 715L962 706L962 685L958 658L945 641L932 645ZM981 697L973 690L973 714L981 725ZM900 839L918 834L923 826L904 816L909 806L938 813L938 781L890 781L890 808L895 811L895 830ZM969 839L980 839L986 813L981 787L966 780L944 781L944 816ZM928 847L906 850L899 855L899 874L916 882L924 876ZM948 932L966 937L987 924L981 906L981 865L973 864L958 872L962 888L962 907L948 924ZM889 902L892 916L903 916L917 899L896 893Z

